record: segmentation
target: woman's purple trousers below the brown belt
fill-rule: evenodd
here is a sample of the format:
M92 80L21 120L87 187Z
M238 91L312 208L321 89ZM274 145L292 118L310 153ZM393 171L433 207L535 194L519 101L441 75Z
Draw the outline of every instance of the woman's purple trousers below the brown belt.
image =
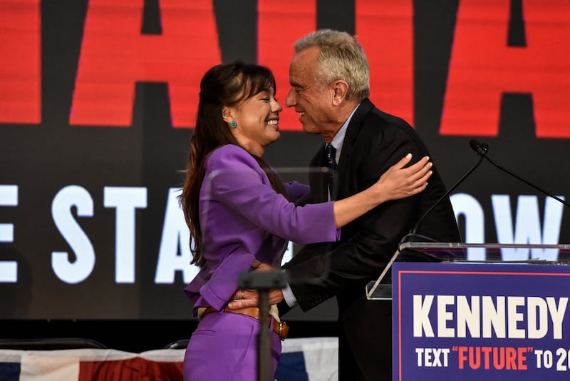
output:
M261 323L237 313L209 313L192 333L184 355L185 381L256 381L257 334ZM273 374L281 340L271 331Z

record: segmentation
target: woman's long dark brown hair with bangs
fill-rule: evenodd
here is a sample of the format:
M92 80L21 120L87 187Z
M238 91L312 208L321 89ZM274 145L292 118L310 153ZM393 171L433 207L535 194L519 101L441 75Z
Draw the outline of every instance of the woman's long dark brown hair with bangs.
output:
M188 228L192 262L202 267L202 229L199 220L199 192L204 181L204 161L210 152L226 144L239 143L229 131L230 126L222 118L224 106L235 106L257 93L272 87L276 91L273 73L264 66L234 61L210 68L200 81L198 114L194 135L190 139L190 153L186 165L186 180L179 196ZM269 168L262 158L253 155L269 177L277 193L285 195L281 178ZM286 196L286 195L285 195Z

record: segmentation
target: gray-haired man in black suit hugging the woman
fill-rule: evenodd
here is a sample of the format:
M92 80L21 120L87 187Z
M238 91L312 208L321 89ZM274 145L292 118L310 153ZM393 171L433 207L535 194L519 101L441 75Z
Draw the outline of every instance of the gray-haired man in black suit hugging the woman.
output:
M300 114L306 133L319 134L336 148L330 193L326 176L320 171L309 174L314 202L362 191L406 153L416 161L429 156L408 123L378 110L368 99L368 60L353 36L318 30L296 41L294 48L285 106ZM311 160L311 168L327 165L324 153L325 146ZM290 288L282 293L289 307L281 303L281 314L296 304L306 311L336 296L341 381L392 379L391 302L368 300L365 285L378 278L400 240L445 193L435 165L432 171L422 193L378 206L343 227L339 242L306 245L284 265ZM449 198L425 217L419 230L440 242L460 242ZM320 281L302 281L316 278ZM272 296L275 300L279 298ZM235 307L245 305L243 300Z

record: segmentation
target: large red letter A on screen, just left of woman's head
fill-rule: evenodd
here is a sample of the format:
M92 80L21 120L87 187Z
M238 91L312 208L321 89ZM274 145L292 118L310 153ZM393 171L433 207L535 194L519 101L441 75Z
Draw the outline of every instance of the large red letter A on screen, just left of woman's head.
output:
M162 34L141 33L144 1L90 0L70 123L130 126L135 82L168 83L172 125L196 120L199 79L219 64L211 1L160 1Z

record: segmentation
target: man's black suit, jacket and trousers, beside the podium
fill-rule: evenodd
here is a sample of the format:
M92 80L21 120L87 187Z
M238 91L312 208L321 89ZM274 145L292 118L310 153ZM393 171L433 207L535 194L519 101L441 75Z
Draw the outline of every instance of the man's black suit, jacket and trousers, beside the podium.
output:
M324 166L323 149L311 160L311 168ZM407 153L412 153L413 163L430 156L408 123L366 99L346 130L336 199L368 188ZM338 243L306 245L284 266L302 310L336 296L341 380L391 380L391 305L367 300L365 285L378 278L403 236L445 193L437 166L432 171L422 193L379 205L344 226ZM311 171L309 181L314 201L326 200L323 175ZM440 242L460 242L449 198L427 215L418 233Z

